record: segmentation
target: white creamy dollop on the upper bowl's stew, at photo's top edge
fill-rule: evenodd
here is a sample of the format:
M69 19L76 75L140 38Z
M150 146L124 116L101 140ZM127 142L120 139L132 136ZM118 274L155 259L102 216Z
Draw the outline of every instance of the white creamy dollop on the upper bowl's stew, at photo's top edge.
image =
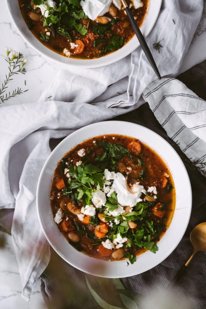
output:
M112 2L117 8L121 8L120 0L81 0L80 5L84 13L91 20L95 20L98 16L103 16L109 11Z

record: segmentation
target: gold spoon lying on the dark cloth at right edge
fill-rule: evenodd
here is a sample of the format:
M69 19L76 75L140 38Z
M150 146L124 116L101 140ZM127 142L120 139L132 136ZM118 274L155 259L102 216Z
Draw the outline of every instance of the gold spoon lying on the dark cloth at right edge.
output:
M190 234L190 241L193 245L193 253L189 260L183 265L183 267L179 270L179 272L176 274L172 282L170 282L169 286L167 288L171 288L179 281L179 279L182 277L183 273L187 269L189 263L191 262L193 256L198 251L206 251L206 222L200 223L194 227L194 229L191 231Z

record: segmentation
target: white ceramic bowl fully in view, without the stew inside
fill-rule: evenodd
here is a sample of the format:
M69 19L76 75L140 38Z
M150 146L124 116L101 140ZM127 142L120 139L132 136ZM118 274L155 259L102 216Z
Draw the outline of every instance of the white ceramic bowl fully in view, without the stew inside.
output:
M95 134L94 134L95 132ZM176 206L172 222L158 242L157 253L147 251L127 266L123 261L103 261L74 249L58 230L49 201L51 180L63 155L83 140L104 134L123 134L137 138L155 150L169 167L176 190ZM161 263L176 248L187 228L192 205L190 180L182 160L162 137L153 131L130 122L107 121L88 125L66 137L49 155L42 168L36 193L40 225L53 249L69 264L95 276L121 278L143 273Z

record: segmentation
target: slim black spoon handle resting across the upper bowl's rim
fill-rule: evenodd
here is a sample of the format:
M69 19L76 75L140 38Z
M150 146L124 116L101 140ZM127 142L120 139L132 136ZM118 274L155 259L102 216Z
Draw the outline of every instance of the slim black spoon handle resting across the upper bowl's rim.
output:
M161 75L160 75L160 73L158 71L158 68L157 68L156 63L154 61L154 58L153 58L153 56L152 56L152 54L151 54L151 52L149 50L149 47L148 47L148 45L147 45L147 43L145 41L144 36L142 35L142 33L140 31L140 28L138 27L138 25L136 23L136 20L134 19L134 17L132 15L132 13L130 12L128 6L125 7L124 10L127 13L128 19L129 19L129 21L130 21L130 23L132 25L132 28L134 29L134 32L135 32L135 34L137 36L137 39L139 40L140 45L141 45L141 47L142 47L142 49L143 49L147 59L149 60L149 63L151 64L151 66L152 66L154 72L156 73L157 77L159 79L161 79Z

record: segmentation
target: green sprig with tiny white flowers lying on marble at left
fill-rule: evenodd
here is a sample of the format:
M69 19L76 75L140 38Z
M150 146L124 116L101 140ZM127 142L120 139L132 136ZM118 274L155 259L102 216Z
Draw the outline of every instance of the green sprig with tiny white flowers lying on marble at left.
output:
M12 57L9 57L10 53L12 53ZM24 65L27 63L27 60L23 57L23 54L17 53L10 48L6 48L7 59L6 62L9 64L9 74L6 74L6 78L2 83L2 87L0 88L0 104L4 101L15 97L16 95L20 95L23 92L28 90L22 90L21 87L13 90L12 92L6 93L6 88L8 88L8 83L13 80L13 76L18 73L25 74L26 69Z

